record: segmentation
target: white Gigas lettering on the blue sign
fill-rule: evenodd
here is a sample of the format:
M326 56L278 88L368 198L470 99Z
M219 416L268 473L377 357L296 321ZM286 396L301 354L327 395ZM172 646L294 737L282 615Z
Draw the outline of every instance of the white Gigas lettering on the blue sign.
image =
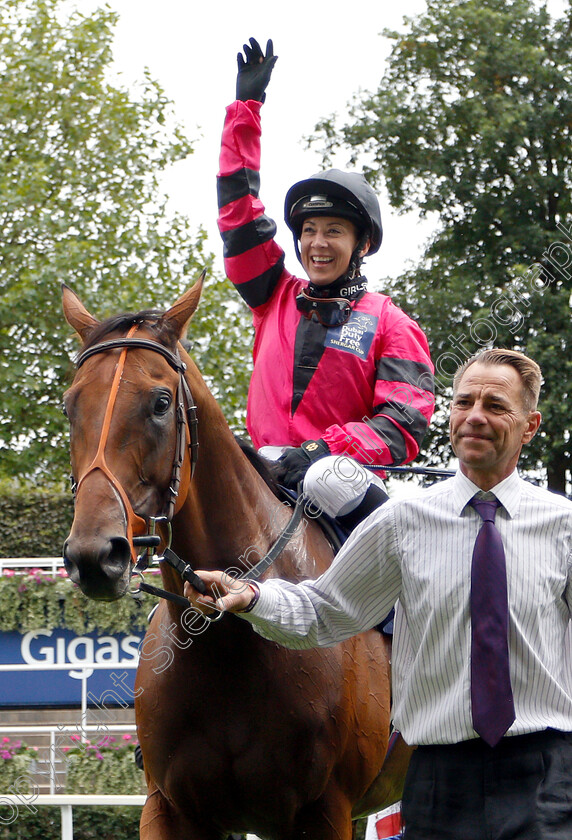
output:
M139 636L125 636L119 640L113 636L75 636L72 639L52 639L52 630L30 630L22 636L20 651L28 665L38 662L46 665L79 665L84 662L129 662L137 661ZM46 637L45 642L40 637Z

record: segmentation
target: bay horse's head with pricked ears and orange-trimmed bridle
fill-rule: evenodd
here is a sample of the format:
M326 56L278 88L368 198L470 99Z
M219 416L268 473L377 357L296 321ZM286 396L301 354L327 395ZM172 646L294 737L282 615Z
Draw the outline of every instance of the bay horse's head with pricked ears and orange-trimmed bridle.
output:
M133 537L146 533L149 517L172 515L178 484L190 478L192 408L178 341L201 287L202 277L164 314L101 323L63 287L66 320L83 344L64 395L75 487L64 563L90 598L112 601L126 593Z

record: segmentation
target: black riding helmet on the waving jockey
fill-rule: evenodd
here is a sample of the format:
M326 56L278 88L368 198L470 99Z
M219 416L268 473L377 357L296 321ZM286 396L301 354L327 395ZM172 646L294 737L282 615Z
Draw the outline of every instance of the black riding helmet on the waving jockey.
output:
M363 175L326 169L290 187L284 202L284 220L294 235L294 247L299 260L298 240L302 223L312 216L349 219L358 229L360 242L356 251L362 249L361 243L366 236L370 240L367 255L379 250L383 238L379 201ZM359 266L355 252L351 262L355 267Z

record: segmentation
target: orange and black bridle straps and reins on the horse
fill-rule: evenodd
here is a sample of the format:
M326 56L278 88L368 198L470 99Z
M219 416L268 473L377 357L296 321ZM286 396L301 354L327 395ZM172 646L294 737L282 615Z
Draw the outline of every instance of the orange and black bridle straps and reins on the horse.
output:
M185 379L185 371L187 369L187 366L182 361L179 352L177 351L174 353L167 347L164 347L162 344L159 344L155 341L151 341L149 339L135 338L134 333L137 331L138 328L139 324L135 324L133 327L131 327L128 334L123 338L113 338L109 339L108 341L102 341L98 344L94 344L92 347L88 347L86 350L81 352L77 358L76 367L79 369L84 364L84 362L87 361L87 359L91 358L92 356L95 356L96 354L104 353L107 350L121 349L121 354L119 356L119 360L115 368L115 374L109 392L109 397L107 400L107 407L105 410L97 452L93 461L91 462L87 470L84 472L82 477L79 479L79 481L77 483L74 482L74 495L79 490L82 482L85 480L87 475L89 475L94 470L101 470L108 479L108 481L113 485L113 487L117 491L123 504L127 521L127 539L129 540L129 543L131 545L131 557L133 562L132 574L138 574L142 578L142 573L144 569L148 567L150 558L153 556L153 550L159 545L161 541L159 536L155 534L156 523L164 522L167 524L168 540L163 554L157 559L159 561L165 560L170 566L172 566L172 568L175 569L175 571L177 571L181 575L183 580L187 580L190 583L192 583L193 586L195 586L195 588L198 589L199 592L201 592L201 594L204 595L206 593L206 587L201 578L199 578L194 573L193 569L188 563L185 563L184 560L182 560L180 557L178 557L177 554L175 554L175 552L171 549L170 545L171 520L175 513L177 513L178 511L177 499L179 497L184 498L184 496L182 496L180 493L180 489L182 467L185 460L187 448L190 457L190 480L192 480L193 478L198 460L199 421L197 415L197 406L195 404L190 386L187 380ZM111 470L107 466L107 462L105 459L105 447L109 435L111 417L113 414L113 408L115 406L117 393L119 391L121 377L123 375L123 370L125 367L127 351L129 349L152 350L154 353L159 353L161 356L163 356L164 359L166 359L166 361L173 368L173 370L175 370L176 373L178 373L179 375L176 397L177 435L175 444L175 454L173 458L173 469L171 473L171 480L169 482L169 496L164 513L159 516L149 517L149 524L147 523L146 519L135 513L129 500L129 497L127 496L127 493L123 489L121 483L118 481L116 476L111 472ZM239 579L257 578L274 562L274 560L278 557L278 555L285 547L287 542L291 539L300 523L303 513L302 502L302 496L299 496L291 519L278 536L274 545L254 567L248 569L242 575L240 575ZM136 534L135 531L137 531L138 534ZM145 551L138 558L135 554L136 545L145 547ZM139 591L148 592L151 595L155 595L157 597L173 601L181 607L189 607L188 600L183 596L178 595L174 592L168 592L164 589L159 589L156 586L151 586L150 584L145 583L145 581L143 580L141 580L139 583L139 589L132 591L132 594L137 595ZM221 618L222 615L223 613L219 613L216 619L210 620L216 621L219 618Z

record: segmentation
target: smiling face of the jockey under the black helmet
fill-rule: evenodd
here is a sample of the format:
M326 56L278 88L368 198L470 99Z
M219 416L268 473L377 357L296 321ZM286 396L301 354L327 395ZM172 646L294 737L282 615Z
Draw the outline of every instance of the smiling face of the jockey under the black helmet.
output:
M348 219L334 216L306 219L300 232L300 255L312 283L327 286L344 274L357 243L357 229Z

